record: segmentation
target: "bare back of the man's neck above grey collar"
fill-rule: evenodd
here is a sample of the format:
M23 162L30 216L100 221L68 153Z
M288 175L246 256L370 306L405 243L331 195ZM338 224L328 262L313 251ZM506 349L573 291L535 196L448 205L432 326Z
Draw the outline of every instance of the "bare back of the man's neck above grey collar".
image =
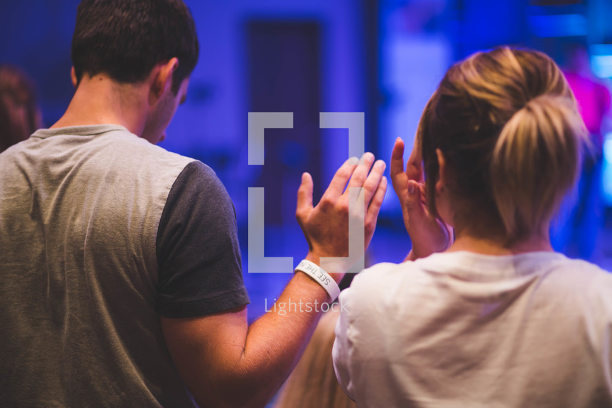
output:
M51 128L121 125L139 135L149 113L146 83L122 84L105 74L83 75L65 114Z

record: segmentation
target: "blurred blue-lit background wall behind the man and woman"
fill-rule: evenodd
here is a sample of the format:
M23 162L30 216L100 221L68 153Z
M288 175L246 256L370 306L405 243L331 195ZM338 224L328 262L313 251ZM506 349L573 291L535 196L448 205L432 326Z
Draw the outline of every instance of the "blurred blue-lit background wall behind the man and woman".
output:
M250 319L264 312L265 301L274 301L290 275L247 272L248 188L265 187L265 255L291 256L297 263L307 252L294 218L300 174L314 176L317 200L348 154L347 130L319 129L319 112L364 112L365 148L388 161L397 136L411 147L422 109L446 69L474 51L501 44L534 47L563 65L567 45L581 43L598 80L606 84L612 76L612 0L186 3L201 54L186 103L162 146L209 164L232 196L253 303ZM47 126L63 114L73 93L70 41L77 4L0 3L0 63L18 65L36 80ZM248 165L249 111L294 112L293 129L266 131L263 167ZM609 215L609 136L604 153L598 189L602 215ZM605 217L601 222L605 226ZM610 269L609 228L596 234L591 260ZM368 261L402 261L409 248L390 188Z

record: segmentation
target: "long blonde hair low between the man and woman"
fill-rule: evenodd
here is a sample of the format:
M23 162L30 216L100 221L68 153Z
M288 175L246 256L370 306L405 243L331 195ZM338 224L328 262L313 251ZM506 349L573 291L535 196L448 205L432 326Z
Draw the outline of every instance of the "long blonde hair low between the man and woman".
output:
M357 405L340 388L331 347L339 312L325 313L300 358L300 362L285 383L274 408L356 408Z

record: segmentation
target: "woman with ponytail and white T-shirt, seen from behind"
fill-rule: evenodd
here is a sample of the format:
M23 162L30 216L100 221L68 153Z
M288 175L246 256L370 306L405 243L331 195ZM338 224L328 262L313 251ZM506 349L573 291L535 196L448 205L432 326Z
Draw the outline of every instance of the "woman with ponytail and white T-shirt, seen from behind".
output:
M545 54L448 69L406 167L400 138L391 158L413 248L340 294L334 367L358 407L612 407L612 275L549 239L586 140Z

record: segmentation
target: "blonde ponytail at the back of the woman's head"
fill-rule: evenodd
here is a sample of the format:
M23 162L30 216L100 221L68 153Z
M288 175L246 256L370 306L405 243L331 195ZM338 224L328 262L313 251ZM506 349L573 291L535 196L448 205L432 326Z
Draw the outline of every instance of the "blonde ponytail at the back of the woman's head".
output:
M490 162L494 202L509 242L542 230L576 182L584 122L571 97L544 94L501 129Z

